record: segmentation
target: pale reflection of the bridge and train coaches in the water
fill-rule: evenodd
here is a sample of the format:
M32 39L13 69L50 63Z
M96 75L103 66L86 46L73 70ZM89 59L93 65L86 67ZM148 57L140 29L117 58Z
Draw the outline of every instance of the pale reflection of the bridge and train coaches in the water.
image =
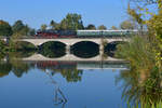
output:
M112 57L103 58L100 55L92 58L80 58L68 54L59 58L48 58L41 54L33 54L30 57L19 58L19 60L53 69L129 69L127 62Z

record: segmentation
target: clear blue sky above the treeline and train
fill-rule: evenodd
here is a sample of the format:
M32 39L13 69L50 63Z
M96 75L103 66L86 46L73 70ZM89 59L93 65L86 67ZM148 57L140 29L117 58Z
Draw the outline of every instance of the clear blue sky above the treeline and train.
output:
M50 24L52 19L59 23L67 13L82 15L84 26L94 24L107 28L119 26L127 19L127 0L0 0L0 19L11 25L22 19L32 28Z

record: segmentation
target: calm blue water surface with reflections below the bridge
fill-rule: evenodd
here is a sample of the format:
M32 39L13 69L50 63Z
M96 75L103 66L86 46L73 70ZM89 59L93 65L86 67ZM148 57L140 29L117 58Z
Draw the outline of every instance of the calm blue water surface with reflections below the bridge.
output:
M121 63L1 63L0 108L125 108L118 81L124 69Z

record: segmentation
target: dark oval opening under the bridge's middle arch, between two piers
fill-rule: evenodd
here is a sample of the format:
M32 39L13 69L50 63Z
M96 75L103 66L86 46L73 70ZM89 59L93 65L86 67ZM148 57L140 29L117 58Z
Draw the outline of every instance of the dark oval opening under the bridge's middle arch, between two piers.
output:
M92 41L80 41L71 46L70 52L80 58L92 58L99 54L99 44Z

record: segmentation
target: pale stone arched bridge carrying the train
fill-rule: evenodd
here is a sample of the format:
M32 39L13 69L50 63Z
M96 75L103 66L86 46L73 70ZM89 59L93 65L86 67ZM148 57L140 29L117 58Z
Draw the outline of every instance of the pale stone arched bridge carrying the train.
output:
M63 39L41 39L41 38L32 38L32 39L17 39L14 41L25 41L32 43L36 46L39 46L45 42L62 42L66 44L66 53L70 53L70 46L79 42L94 42L99 45L99 53L103 55L104 53L104 43L112 43L112 42L123 42L129 41L127 38L63 38Z

